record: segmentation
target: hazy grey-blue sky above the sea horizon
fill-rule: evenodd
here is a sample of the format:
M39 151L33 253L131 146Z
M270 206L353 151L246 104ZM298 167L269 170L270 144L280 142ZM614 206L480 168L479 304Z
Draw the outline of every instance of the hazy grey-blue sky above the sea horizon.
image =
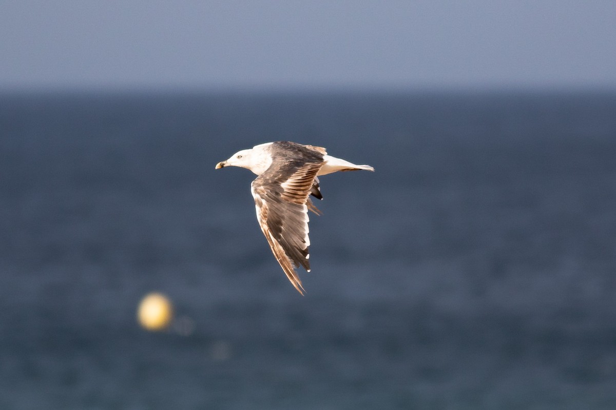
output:
M1 89L616 89L616 1L0 0Z

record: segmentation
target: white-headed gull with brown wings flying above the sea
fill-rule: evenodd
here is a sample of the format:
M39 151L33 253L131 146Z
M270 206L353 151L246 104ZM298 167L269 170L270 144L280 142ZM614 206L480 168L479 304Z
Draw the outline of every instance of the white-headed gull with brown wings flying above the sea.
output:
M299 293L302 281L295 269L310 272L308 210L320 215L310 195L323 199L318 176L337 171L374 171L370 165L355 165L327 155L325 148L277 141L235 152L216 164L247 168L257 176L251 184L257 221L286 277Z

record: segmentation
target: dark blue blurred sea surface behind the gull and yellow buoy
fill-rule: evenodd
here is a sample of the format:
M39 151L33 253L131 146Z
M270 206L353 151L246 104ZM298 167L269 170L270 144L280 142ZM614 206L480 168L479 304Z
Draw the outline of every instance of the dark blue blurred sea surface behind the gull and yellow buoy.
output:
M0 408L616 408L616 95L2 95ZM321 180L306 296L274 140ZM168 294L165 333L136 322Z

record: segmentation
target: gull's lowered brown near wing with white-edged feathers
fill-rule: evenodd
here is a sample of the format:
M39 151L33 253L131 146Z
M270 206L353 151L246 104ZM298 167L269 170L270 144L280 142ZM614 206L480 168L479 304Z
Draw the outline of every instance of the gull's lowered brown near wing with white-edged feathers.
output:
M286 160L272 164L251 185L257 221L286 277L304 294L295 268L310 272L308 209L317 210L308 196L320 162ZM318 211L318 210L317 210Z

